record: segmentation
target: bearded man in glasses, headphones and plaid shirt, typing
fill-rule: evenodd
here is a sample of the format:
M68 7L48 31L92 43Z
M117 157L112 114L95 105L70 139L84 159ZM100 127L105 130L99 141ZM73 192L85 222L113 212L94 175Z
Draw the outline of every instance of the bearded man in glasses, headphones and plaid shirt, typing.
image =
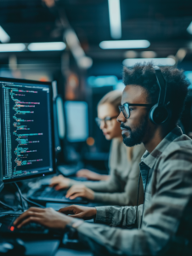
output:
M191 254L192 143L177 126L189 83L176 68L163 67L157 75L159 71L150 63L124 68L126 87L117 118L124 143L144 143L146 148L139 164L144 203L71 206L59 212L31 208L15 221L18 228L31 221L63 230L67 226L98 255ZM167 93L160 86L165 82ZM94 218L97 224L78 218Z

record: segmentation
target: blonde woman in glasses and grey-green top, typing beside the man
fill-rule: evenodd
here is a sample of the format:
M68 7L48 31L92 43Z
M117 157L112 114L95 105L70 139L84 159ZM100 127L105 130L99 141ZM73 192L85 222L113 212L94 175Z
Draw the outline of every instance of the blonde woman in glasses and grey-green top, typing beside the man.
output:
M54 177L50 186L56 190L69 189L66 197L75 199L82 196L91 201L116 206L135 206L137 202L139 162L144 154L144 146L127 148L122 143L120 124L116 121L121 105L121 91L113 90L106 94L98 104L99 128L107 140L112 140L110 147L110 177L98 182L77 182L59 175ZM140 191L143 191L140 183ZM143 193L138 202L143 201Z

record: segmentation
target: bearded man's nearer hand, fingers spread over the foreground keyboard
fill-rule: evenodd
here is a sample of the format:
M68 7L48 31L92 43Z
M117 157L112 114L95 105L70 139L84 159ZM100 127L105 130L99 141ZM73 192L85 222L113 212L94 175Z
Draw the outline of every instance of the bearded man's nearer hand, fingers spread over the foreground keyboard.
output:
M35 222L51 229L64 230L66 224L71 222L69 216L54 211L53 208L31 207L14 221L14 225L20 229L23 225Z

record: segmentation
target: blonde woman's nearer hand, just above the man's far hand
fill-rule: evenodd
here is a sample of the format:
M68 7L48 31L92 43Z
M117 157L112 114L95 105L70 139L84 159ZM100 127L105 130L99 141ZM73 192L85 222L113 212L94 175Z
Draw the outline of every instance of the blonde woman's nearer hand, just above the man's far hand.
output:
M66 198L70 198L70 199L75 199L78 196L88 198L89 200L93 200L94 192L92 189L86 188L85 185L76 184L76 185L73 185L65 195Z

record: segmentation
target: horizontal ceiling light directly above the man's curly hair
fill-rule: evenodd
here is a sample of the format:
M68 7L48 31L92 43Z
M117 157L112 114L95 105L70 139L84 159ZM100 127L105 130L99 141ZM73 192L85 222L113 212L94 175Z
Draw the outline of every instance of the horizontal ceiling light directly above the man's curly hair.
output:
M135 59L126 59L122 62L124 66L133 67L135 64L140 63L144 64L146 62L153 62L157 66L173 66L175 65L175 60L172 58L135 58Z

